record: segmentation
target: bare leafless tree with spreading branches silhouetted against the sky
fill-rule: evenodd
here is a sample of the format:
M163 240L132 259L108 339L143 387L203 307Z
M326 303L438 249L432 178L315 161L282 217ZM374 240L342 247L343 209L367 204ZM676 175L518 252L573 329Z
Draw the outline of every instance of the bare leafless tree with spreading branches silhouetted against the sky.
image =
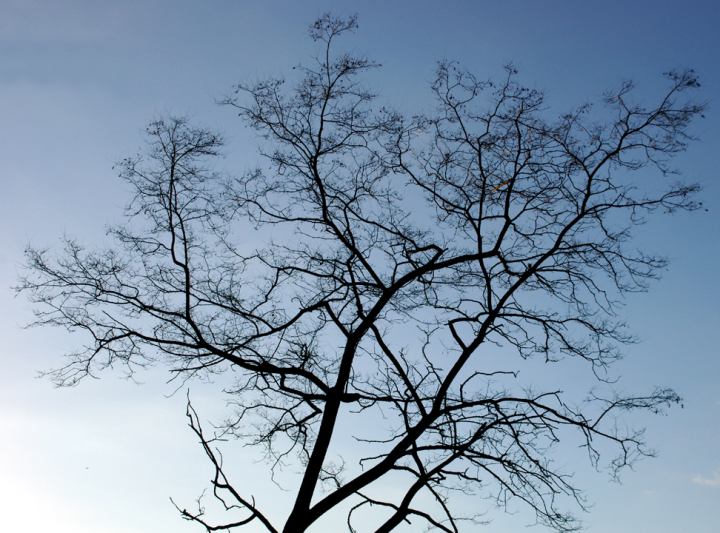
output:
M241 84L223 101L264 139L266 168L218 172L221 135L158 118L146 154L119 163L134 198L128 223L109 229L116 246L28 248L18 289L38 304L35 325L90 339L49 374L67 386L162 361L183 379L240 376L220 434L203 433L188 403L214 494L240 513L213 525L202 507L181 510L208 531L260 522L303 532L342 509L350 531L365 519L376 532L457 532L479 516L456 505L463 493L517 499L539 522L575 530L563 497L584 499L551 461L557 443L574 432L593 465L618 473L652 452L616 417L679 401L668 389L614 392L607 369L634 340L618 298L667 264L632 247L632 228L699 205L696 185L658 192L649 172L673 175L669 159L692 140L704 109L687 97L696 77L668 73L653 107L625 82L600 111L554 118L512 66L500 82L479 81L445 61L434 112L404 117L373 107L362 74L378 65L334 53L356 26L323 16L310 30L323 53L294 85ZM261 249L238 244L248 224L268 237ZM523 388L531 358L582 359L598 387L578 404ZM345 419L359 421L360 468L330 459ZM225 476L214 442L231 435L264 447L271 469L301 465L284 526ZM377 490L390 482L399 496Z

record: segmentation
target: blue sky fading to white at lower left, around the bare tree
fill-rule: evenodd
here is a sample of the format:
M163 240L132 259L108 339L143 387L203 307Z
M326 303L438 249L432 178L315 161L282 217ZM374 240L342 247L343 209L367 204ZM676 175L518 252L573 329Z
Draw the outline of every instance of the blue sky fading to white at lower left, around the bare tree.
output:
M57 246L63 234L106 242L127 191L113 163L141 147L157 113L188 113L231 138L225 165L257 155L250 132L216 105L233 84L287 72L315 50L306 28L319 14L359 14L348 46L383 68L372 83L393 106L427 109L438 60L480 77L513 62L526 85L558 111L597 99L633 78L650 98L661 74L694 68L710 110L700 142L675 161L700 182L707 211L662 216L636 243L671 258L663 279L626 301L642 340L615 371L630 387L672 386L682 409L637 417L658 457L621 485L578 464L594 506L593 533L711 533L720 523L720 4L667 0L474 1L65 1L0 3L0 516L28 533L192 532L169 497L190 507L212 474L186 427L185 389L162 368L112 370L55 389L37 372L81 339L23 329L31 307L10 288L27 243ZM654 92L655 91L655 92ZM208 419L226 411L218 383L190 385ZM261 496L266 467L232 449L237 475ZM228 456L230 457L230 456ZM568 461L574 459L568 455ZM230 461L230 459L228 459ZM570 466L576 466L572 463ZM266 495L267 494L267 495ZM184 502L184 503L183 503ZM527 531L527 515L491 511L480 531Z

